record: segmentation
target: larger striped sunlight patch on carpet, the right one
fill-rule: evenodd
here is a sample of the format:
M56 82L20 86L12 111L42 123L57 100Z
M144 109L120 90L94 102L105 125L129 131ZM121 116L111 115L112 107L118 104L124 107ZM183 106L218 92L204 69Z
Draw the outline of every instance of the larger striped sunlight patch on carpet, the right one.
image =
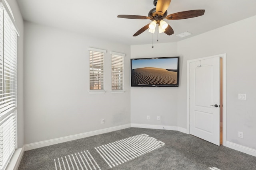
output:
M146 134L95 147L105 162L113 168L164 146L164 143Z

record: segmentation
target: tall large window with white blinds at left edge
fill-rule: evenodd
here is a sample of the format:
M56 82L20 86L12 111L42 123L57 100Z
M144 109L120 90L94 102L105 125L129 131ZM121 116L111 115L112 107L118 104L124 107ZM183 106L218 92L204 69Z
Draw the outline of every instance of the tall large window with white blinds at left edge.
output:
M0 2L0 170L4 170L16 149L18 31L8 4Z

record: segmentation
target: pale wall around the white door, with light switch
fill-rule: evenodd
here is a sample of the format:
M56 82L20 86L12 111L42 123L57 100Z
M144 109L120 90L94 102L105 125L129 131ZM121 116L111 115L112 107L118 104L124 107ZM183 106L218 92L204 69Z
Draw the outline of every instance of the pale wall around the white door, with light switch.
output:
M186 61L226 53L227 56L227 141L256 149L256 16L178 42L178 53ZM186 82L186 74L182 74ZM247 100L238 100L238 93ZM178 92L186 98L186 86ZM186 127L186 102L178 102L178 126ZM244 139L238 138L238 131Z

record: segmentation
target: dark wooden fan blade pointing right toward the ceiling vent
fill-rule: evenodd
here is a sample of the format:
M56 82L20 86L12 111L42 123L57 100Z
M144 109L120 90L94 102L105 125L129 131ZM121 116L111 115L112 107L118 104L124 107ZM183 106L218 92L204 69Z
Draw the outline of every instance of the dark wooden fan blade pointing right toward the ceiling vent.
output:
M190 10L190 11L183 11L183 12L177 12L174 14L170 14L166 16L167 20L182 20L187 18L194 18L198 16L204 15L205 10Z

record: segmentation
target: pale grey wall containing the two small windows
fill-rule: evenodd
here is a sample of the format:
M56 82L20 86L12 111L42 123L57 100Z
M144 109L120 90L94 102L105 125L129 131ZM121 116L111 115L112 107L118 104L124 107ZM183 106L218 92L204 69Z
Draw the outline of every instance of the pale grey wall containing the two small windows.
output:
M130 46L24 22L25 144L130 123ZM105 94L89 94L88 47L105 49ZM110 51L125 53L112 94ZM101 124L105 119L105 124Z

